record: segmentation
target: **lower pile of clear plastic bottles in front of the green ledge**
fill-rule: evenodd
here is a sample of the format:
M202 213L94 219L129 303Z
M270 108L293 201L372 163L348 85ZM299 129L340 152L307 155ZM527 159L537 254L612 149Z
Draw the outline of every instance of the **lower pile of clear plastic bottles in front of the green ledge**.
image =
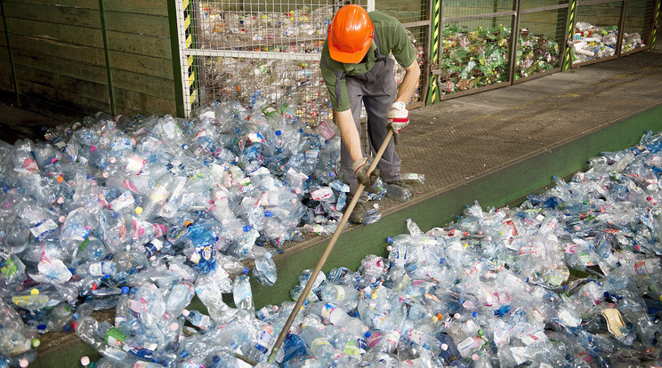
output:
M387 258L368 255L356 272L319 274L276 362L662 363L660 149L662 135L647 133L637 147L591 160L590 170L568 183L556 180L555 188L530 195L519 208L483 211L472 204L455 222L426 233L408 220L409 234L386 239ZM310 277L304 270L293 300ZM107 356L101 364L134 362L147 349L152 362L164 366L241 366L237 354L272 366L264 361L295 303L255 311L246 276L231 284L213 273L203 279L195 291L208 315L183 309L190 288L174 283L171 290L157 277L123 297L129 310L117 312L115 326L86 317L77 333ZM237 308L213 297L230 289ZM138 300L150 303L137 308ZM121 341L109 339L109 331Z

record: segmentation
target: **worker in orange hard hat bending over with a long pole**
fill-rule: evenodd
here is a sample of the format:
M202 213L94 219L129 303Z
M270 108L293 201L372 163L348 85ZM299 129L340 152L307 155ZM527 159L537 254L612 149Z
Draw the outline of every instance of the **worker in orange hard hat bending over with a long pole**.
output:
M400 88L395 83L390 53L405 68ZM406 102L421 74L405 28L384 12L368 13L359 5L345 5L335 13L328 28L320 67L343 140L340 163L351 194L356 193L359 183L368 188L380 175L388 184L411 190L400 180L400 157L395 152L400 130L409 123ZM371 159L363 156L360 145L361 103L367 112L372 155L389 130L393 131L393 140L370 175L367 170ZM365 201L359 201L349 220L362 223L365 217Z

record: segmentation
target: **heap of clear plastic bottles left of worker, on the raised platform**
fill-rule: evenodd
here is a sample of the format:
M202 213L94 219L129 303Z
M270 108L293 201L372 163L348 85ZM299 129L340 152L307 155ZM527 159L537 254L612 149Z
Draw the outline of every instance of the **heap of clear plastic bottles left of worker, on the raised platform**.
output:
M284 242L335 231L349 187L333 125L313 132L260 99L193 116L99 113L45 141L0 141L0 352L31 361L38 334L115 307L125 285L159 279L182 308L194 293L221 308L209 298L230 292L243 260L270 285Z

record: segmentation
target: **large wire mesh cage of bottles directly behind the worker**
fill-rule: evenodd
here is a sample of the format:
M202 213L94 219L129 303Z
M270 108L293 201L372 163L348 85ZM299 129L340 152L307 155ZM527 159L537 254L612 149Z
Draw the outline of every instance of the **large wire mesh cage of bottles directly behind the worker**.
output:
M215 100L238 100L252 106L260 98L278 106L292 106L311 127L331 118L319 58L335 12L348 3L367 7L367 1L337 0L190 3L188 12L184 8L190 21L183 21L190 29L183 37L187 47L181 50L186 55L182 64L189 67L183 77L185 92L189 93L185 96L187 115ZM384 9L375 10L384 10L401 22L416 22L424 19L425 4L390 1L378 4ZM413 24L408 32L422 60L425 37L419 28L421 25ZM400 82L404 69L396 63L393 72ZM416 92L412 100L418 95Z

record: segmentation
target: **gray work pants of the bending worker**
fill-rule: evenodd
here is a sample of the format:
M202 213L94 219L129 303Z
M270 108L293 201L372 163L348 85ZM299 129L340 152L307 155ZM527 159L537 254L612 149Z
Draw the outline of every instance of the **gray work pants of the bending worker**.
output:
M389 132L386 114L391 108L398 93L398 86L393 77L394 61L386 58L386 61L377 61L375 66L362 76L345 76L347 93L350 96L351 115L354 124L361 136L361 103L365 105L367 112L367 139L372 156L375 156L384 138ZM359 182L354 176L351 168L350 152L345 148L344 141L340 145L340 165L343 168L343 180L350 186L351 193L356 193ZM393 140L383 151L382 159L379 160L377 168L381 172L383 180L400 180L400 157L395 153Z

